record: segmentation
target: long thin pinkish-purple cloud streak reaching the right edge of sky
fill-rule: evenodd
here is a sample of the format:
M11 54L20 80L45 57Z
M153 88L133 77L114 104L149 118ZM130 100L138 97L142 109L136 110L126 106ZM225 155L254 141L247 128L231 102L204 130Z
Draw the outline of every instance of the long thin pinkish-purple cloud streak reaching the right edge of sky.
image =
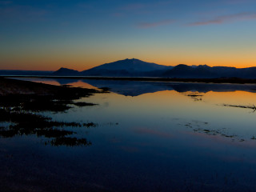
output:
M256 19L256 14L252 14L252 13L230 14L226 16L213 18L207 21L192 22L190 23L189 26L206 26L206 25L212 25L212 24L223 24L223 23L229 23L229 22L253 20L253 19Z

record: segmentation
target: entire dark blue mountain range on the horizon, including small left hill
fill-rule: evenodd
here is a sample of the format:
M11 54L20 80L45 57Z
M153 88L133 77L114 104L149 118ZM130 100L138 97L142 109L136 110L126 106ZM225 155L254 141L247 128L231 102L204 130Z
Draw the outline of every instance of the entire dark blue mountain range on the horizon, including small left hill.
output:
M126 58L116 62L95 66L90 70L61 68L55 76L97 76L97 77L153 77L153 78L256 78L256 67L238 69L228 66L163 66L143 62L137 58Z

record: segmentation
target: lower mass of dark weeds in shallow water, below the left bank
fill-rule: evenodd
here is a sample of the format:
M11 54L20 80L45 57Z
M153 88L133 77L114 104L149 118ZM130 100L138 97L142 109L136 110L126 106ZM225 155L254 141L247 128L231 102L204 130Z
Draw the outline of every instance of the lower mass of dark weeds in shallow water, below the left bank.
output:
M38 137L51 138L46 144L50 143L52 146L90 146L91 142L87 141L86 138L71 138L70 135L76 134L74 131L60 128L64 126L96 126L93 122L56 122L52 118L45 117L41 114L6 108L0 109L0 122L10 122L9 126L2 126L0 128L0 137L2 138L36 134Z

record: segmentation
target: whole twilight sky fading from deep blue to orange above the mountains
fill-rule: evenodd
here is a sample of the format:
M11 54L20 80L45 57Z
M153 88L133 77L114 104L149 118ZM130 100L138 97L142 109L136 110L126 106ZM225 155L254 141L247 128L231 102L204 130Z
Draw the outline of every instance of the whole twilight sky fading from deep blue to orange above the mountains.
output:
M0 70L256 66L256 0L0 0Z

